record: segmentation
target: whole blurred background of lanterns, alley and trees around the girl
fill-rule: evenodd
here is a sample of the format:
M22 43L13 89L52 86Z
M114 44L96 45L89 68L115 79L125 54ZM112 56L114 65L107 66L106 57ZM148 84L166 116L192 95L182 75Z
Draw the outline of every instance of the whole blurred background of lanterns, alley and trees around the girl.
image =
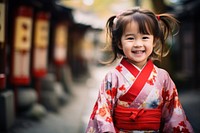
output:
M101 80L107 19L135 6L172 13L180 31L158 66L200 132L200 0L0 0L0 133L82 133Z

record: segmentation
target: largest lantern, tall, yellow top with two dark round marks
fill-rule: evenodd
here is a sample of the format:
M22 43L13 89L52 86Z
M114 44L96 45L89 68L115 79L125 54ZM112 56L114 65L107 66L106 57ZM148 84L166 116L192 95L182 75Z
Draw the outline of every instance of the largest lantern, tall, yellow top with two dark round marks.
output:
M20 6L14 19L11 82L15 85L30 83L32 16L31 7Z

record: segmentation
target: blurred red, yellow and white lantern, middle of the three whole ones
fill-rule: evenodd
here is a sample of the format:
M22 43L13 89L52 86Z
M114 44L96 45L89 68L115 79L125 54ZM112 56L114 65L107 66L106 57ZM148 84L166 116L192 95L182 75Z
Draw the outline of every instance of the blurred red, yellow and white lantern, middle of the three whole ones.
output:
M49 13L38 12L35 20L33 75L43 77L47 73L49 44Z

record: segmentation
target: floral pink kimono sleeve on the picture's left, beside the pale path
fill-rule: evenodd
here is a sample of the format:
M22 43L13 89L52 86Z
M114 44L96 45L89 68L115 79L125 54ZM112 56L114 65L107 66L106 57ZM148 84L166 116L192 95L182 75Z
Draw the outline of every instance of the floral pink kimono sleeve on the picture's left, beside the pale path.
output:
M90 116L86 133L115 133L112 110L117 93L117 82L117 76L114 73L110 72L105 76Z

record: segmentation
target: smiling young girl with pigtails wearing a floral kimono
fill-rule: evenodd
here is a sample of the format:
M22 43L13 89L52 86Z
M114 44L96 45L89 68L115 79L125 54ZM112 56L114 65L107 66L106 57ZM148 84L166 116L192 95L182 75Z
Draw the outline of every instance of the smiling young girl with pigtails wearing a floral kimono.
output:
M87 133L192 133L168 72L153 64L167 54L177 21L139 8L107 21L116 68L105 76Z

